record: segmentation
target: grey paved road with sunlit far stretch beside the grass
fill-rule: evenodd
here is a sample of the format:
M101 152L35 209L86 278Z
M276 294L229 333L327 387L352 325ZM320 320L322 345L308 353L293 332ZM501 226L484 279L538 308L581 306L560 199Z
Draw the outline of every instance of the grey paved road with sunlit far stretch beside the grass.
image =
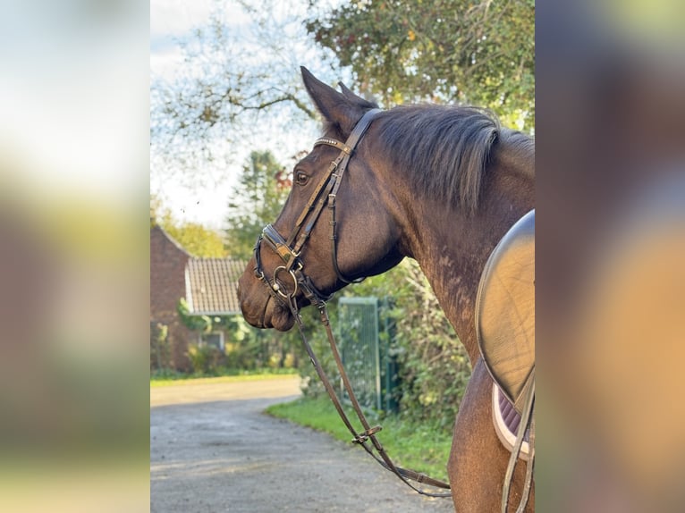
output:
M453 511L359 448L261 413L299 394L294 377L150 389L150 510Z

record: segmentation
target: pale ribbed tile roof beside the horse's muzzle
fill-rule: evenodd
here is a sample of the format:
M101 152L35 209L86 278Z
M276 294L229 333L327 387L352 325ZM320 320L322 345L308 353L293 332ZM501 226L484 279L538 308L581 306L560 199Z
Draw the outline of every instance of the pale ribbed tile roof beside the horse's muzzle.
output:
M238 279L246 265L234 258L190 258L185 267L190 314L240 314Z

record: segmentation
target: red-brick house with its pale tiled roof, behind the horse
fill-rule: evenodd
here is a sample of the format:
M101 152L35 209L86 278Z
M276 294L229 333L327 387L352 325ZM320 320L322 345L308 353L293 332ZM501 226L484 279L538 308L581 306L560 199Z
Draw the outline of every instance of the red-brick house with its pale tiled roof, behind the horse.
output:
M182 323L178 303L185 298L190 315L240 315L236 286L246 263L232 258L197 258L158 225L150 228L150 326L167 326L169 365L190 371L190 343L224 349L224 332L200 334Z

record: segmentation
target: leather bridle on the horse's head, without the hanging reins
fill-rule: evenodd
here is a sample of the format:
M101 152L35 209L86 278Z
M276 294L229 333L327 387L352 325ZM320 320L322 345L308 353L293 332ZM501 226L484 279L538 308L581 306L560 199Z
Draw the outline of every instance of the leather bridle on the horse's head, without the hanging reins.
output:
M347 165L350 163L354 148L376 117L376 114L380 112L380 109L371 109L364 114L355 125L350 137L344 143L327 137L317 139L314 143L314 147L319 145L336 147L340 150L340 155L331 162L326 173L318 182L317 187L309 197L309 201L298 217L288 239L284 239L271 224L266 224L257 239L254 249L255 276L266 284L269 293L275 299L278 299L282 303L287 300L290 303L290 305L287 305L288 307L294 304L295 295L298 290L302 290L304 296L314 305L319 305L326 302L328 299L331 299L330 295L326 296L318 290L311 279L309 279L309 276L304 273L304 263L300 258L300 252L307 243L307 240L309 240L309 235L314 229L314 225L317 223L317 220L326 205L331 211L331 258L335 275L338 281L345 284L358 281L345 277L338 267L335 235L335 198L337 197L338 189L342 183L342 175L345 170L347 170ZM275 268L271 280L266 277L262 268L260 254L262 241L266 242L268 248L271 248L271 250L283 261L283 265L279 265ZM293 284L292 290L288 292L283 290L282 282L278 279L279 275L290 276Z

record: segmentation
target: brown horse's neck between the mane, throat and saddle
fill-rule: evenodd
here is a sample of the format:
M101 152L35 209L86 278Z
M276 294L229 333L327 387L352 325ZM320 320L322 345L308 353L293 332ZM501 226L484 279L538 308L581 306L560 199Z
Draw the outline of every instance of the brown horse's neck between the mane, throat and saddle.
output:
M476 214L415 196L406 205L403 252L419 262L471 365L479 356L474 313L487 257L512 224L534 207L535 164L524 164L511 156L493 159Z

